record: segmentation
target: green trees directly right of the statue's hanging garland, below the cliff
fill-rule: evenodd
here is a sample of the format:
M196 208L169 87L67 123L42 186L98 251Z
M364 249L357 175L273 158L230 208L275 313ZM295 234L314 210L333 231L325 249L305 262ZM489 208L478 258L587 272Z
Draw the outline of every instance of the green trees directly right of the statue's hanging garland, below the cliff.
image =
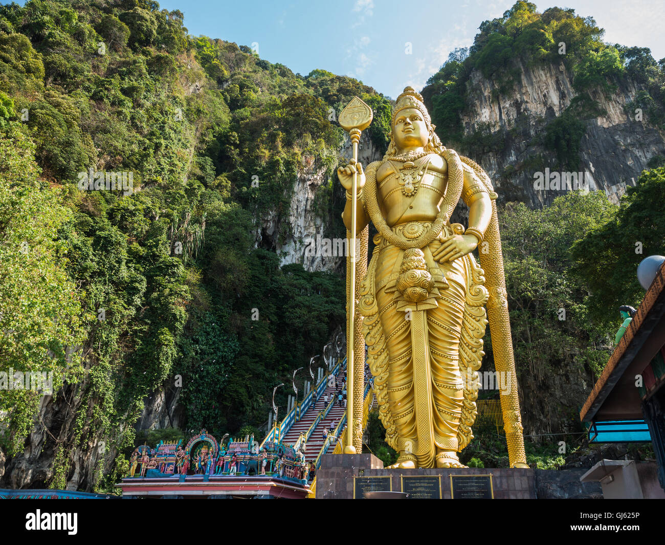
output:
M588 393L583 385L606 363L608 330L589 316L588 288L571 273L570 249L613 214L603 192L571 192L542 210L524 204L499 210L517 376L531 407L525 421L537 429L577 431L576 411ZM491 338L485 351L491 369ZM566 394L553 406L549 395L559 391Z

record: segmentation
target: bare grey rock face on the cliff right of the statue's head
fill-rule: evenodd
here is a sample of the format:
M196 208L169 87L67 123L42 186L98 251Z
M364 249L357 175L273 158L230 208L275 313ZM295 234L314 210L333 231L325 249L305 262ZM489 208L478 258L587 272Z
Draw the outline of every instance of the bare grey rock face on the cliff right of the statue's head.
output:
M548 122L560 116L577 96L572 75L563 65L526 67L518 63L513 91L498 94L493 81L471 73L467 108L462 114L465 134L488 130L497 145L485 146L471 158L479 162L504 198L524 200L532 207L550 204L563 190L536 190L535 172L557 170L555 156L541 142ZM626 113L626 105L642 88L630 81L609 82L616 90L592 89L589 95L604 113L585 121L580 166L590 190L604 190L618 202L626 186L634 186L647 162L664 154L665 138L644 121ZM445 144L445 141L444 141Z

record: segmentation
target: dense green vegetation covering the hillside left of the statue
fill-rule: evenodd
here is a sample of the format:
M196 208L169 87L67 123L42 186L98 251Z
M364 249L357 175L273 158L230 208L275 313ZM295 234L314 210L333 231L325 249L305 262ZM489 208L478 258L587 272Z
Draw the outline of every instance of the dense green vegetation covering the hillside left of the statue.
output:
M330 111L354 94L376 108L385 148L390 104L371 88L192 37L156 2L0 7L0 360L57 371L71 407L43 484L64 487L76 449L132 445L162 385L182 380L188 429L261 425L273 385L343 325L342 278L281 267L269 239L256 243L270 214L273 236L289 235L297 176L331 180L343 133ZM90 169L132 187L82 190ZM344 236L331 188L321 216ZM10 456L38 404L0 393Z

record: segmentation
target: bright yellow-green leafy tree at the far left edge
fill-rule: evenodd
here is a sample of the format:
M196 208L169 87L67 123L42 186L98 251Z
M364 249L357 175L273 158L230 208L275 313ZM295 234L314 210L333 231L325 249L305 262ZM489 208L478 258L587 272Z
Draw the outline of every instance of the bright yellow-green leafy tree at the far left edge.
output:
M69 210L39 174L34 146L10 123L0 134L0 371L51 373L57 393L80 378L84 333L78 289L57 240ZM0 447L13 454L41 395L51 392L7 388L0 389Z

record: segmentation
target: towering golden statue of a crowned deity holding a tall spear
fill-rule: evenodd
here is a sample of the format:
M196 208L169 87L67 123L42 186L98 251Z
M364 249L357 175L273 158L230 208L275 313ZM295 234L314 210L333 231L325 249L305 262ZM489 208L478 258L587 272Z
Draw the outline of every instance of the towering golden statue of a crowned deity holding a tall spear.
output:
M368 108L356 97L340 116L354 143L354 159L338 169L347 198L342 218L351 239L347 294L354 293L355 303L349 307L354 327L347 327L352 447L344 452L360 452L366 343L386 442L399 454L391 467L464 467L458 453L473 438L487 304L496 371L509 381L501 391L501 409L510 465L528 467L497 194L480 166L442 145L422 96L411 87L394 106L383 160L363 169L357 162L358 128L364 130L372 118L363 106ZM460 197L469 208L466 230L450 224ZM378 234L367 267L370 220ZM471 254L479 245L484 270Z

